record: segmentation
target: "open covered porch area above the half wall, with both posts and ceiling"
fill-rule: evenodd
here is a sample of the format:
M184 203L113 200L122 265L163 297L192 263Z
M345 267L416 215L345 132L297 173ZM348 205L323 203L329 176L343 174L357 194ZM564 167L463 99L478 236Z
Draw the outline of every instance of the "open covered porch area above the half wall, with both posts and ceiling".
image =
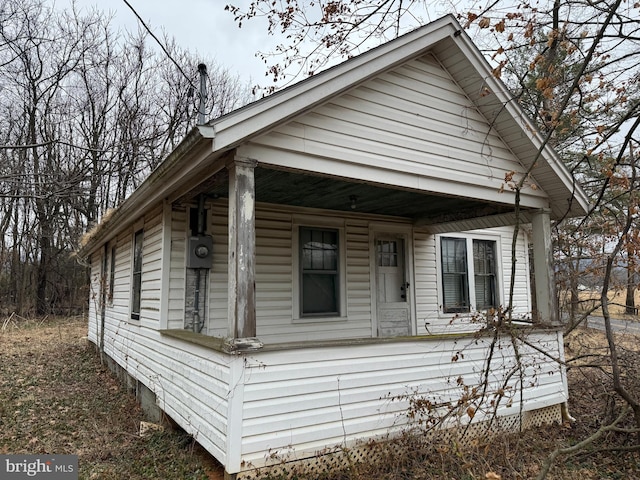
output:
M516 219L507 194L496 197L500 202L495 198L480 201L274 169L229 156L218 168L171 204L174 237L183 235L175 229L185 228L185 220L176 212L188 216L196 205L208 212L206 231L213 236L208 315L215 325L210 323L205 334L224 337L242 348L258 345L265 335L265 343L281 343L452 332L445 327L454 324L454 317L458 319L455 331L475 330L477 326L462 327L460 321L460 317L472 316L473 308L466 307L467 314L461 315L442 307L438 237L451 235L479 235L496 245L500 260L495 265L499 270L495 308L511 305L514 319L557 323L550 212L538 208L538 200L533 201L535 207L521 206ZM521 225L514 245L516 221ZM524 222L534 224L530 239L523 233ZM335 232L334 313L304 312L301 229ZM479 233L469 233L472 229ZM533 269L538 272L536 308L529 294L528 240L534 245ZM394 258L401 262L399 273L389 273L376 263L377 249L390 244L400 252ZM172 264L178 264L182 253L172 255ZM512 263L516 281L513 298L509 298ZM392 285L393 295L381 293L391 288L386 283ZM188 292L185 295L189 297ZM391 307L384 310L383 302ZM405 317L406 323L399 325L396 320ZM163 327L180 328L175 321ZM335 335L328 336L329 332Z

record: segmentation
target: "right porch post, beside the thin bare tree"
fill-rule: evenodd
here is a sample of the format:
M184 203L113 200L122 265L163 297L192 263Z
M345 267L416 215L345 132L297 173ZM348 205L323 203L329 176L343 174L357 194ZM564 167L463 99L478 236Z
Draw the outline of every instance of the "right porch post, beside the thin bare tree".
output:
M534 213L531 218L531 226L538 322L558 325L549 210L543 209Z

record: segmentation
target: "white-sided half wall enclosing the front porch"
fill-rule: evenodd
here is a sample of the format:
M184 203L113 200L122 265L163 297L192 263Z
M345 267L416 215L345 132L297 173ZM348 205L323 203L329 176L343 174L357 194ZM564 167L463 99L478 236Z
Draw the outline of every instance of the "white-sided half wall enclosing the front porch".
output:
M523 327L518 336L533 347L509 336L435 335L275 344L238 354L212 337L164 331L163 343L190 367L162 375L172 382L149 384L160 408L198 442L214 454L227 452L220 460L233 474L426 428L438 415L446 417L445 427L493 419L494 428L517 430L527 418L529 424L561 421L568 398L558 363L561 332ZM223 375L210 368L223 364ZM473 387L480 388L471 395ZM417 397L438 407L414 411L412 423L410 400ZM178 399L190 400L177 405Z

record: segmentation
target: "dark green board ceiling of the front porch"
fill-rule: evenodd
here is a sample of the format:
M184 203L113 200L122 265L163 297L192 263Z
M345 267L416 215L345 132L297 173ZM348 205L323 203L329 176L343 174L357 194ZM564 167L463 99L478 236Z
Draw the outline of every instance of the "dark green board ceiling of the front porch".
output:
M454 195L430 195L260 166L255 169L255 185L257 202L404 217L421 224L450 222L513 211L513 207L508 205L474 201ZM195 202L200 194L228 198L227 170L219 171L202 182L181 197L179 202ZM352 208L352 196L355 196L355 208Z

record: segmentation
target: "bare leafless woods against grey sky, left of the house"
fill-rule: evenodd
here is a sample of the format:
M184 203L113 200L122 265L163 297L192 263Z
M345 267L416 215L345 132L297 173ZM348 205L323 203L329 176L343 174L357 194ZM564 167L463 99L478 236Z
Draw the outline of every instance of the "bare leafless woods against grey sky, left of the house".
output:
M0 25L1 313L72 313L88 296L77 242L193 128L197 65L209 67L207 118L251 93L97 10L8 0Z

